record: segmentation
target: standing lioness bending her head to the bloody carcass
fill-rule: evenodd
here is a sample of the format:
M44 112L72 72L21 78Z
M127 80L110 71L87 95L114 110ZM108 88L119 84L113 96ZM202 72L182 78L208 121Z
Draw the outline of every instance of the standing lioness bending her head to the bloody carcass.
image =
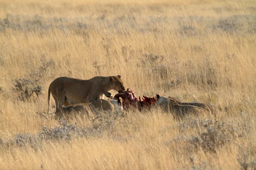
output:
M121 76L93 77L88 80L59 77L49 85L48 111L50 109L51 94L56 103L56 112L61 106L77 103L88 103L101 99L106 91L124 91Z

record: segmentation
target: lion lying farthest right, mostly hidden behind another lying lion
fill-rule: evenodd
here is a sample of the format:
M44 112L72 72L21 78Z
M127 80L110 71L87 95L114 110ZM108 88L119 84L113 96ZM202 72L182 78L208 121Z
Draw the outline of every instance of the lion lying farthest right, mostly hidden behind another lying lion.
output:
M209 111L215 116L218 115L218 113L220 113L218 108L212 104L197 103L197 102L180 102L180 100L177 99L176 97L169 97L169 98L175 100L179 105L192 105L192 106L198 106L200 108L205 108L207 111Z

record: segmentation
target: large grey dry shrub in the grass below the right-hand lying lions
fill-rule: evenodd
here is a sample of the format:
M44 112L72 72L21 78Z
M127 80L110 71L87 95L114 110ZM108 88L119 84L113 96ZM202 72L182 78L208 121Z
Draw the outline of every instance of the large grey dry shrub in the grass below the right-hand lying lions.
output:
M204 152L216 153L221 147L229 146L238 139L238 129L233 127L232 124L220 123L217 120L198 120L181 123L174 128L179 128L181 133L184 132L184 128L196 128L202 132L198 132L198 135L175 136L172 142L187 142L186 146L189 152L196 152L203 150ZM171 143L172 143L171 142Z

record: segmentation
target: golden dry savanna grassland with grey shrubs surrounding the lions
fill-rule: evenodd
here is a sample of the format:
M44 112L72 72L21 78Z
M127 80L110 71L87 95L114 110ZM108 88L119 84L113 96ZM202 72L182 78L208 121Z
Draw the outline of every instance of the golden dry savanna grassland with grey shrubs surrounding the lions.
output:
M0 0L0 168L255 169L255 54L254 0ZM44 113L55 78L118 74L221 114Z

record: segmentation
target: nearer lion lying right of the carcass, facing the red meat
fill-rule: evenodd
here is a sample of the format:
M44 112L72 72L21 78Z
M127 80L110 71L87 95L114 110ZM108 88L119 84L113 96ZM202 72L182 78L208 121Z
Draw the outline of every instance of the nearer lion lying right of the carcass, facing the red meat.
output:
M209 114L210 112L205 108L200 108L193 105L179 105L174 99L157 94L156 105L162 107L166 112L172 112L175 116L183 117L186 114L193 113L195 115Z

